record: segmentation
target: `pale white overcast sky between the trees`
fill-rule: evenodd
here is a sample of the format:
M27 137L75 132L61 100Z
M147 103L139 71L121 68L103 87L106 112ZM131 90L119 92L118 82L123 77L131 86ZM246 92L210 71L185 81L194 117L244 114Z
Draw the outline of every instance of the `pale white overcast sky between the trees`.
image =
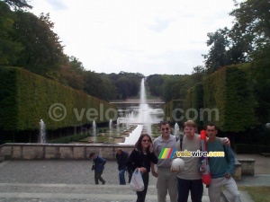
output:
M233 0L31 0L85 69L96 73L192 74L207 33L231 27Z

